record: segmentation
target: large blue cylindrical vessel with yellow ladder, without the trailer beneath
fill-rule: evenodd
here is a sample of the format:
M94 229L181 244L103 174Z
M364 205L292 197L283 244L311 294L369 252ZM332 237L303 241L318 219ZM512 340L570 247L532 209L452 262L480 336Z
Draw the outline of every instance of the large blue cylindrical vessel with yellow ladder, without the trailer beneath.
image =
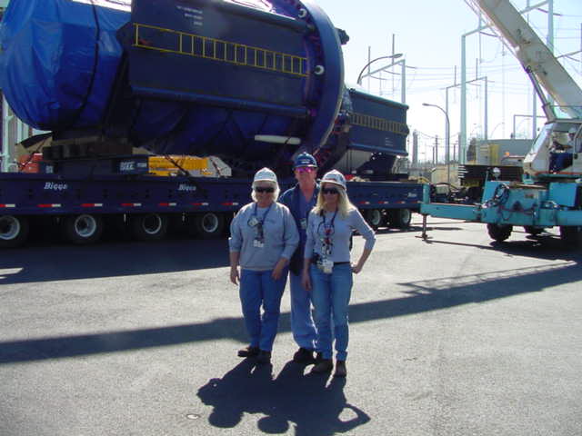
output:
M338 33L308 1L12 0L0 44L25 123L246 172L324 144L343 91Z

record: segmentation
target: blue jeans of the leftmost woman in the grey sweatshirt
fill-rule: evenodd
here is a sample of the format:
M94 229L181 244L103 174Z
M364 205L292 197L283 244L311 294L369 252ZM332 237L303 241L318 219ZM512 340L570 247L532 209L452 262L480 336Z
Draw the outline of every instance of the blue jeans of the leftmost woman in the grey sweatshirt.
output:
M245 316L246 331L251 338L250 345L265 352L273 349L281 312L281 297L287 282L286 270L279 280L274 280L271 277L272 273L273 270L240 272L240 302Z

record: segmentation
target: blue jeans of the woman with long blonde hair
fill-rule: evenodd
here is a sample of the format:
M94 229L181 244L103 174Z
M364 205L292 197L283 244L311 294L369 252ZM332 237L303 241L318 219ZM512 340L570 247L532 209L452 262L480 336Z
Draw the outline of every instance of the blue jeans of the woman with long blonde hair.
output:
M345 361L349 330L347 306L352 294L352 267L349 263L334 265L331 274L311 265L312 301L316 309L317 346L324 359L332 357L332 316L336 336L336 359Z

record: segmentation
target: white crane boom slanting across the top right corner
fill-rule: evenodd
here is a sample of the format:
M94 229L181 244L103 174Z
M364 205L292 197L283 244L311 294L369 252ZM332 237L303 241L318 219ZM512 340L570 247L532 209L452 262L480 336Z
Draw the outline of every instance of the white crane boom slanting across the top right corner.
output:
M556 116L540 85L557 102L562 112L573 118L582 116L582 89L509 0L466 2L476 13L481 11L487 16L493 30L516 55L534 84L539 98L544 102L544 112L549 120Z

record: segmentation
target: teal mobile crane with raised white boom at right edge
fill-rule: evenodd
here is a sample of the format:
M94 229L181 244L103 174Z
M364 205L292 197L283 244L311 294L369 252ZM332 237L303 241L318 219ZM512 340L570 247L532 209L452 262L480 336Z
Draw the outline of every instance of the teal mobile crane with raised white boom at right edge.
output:
M547 123L524 160L523 180L488 181L481 203L431 203L426 185L420 208L423 238L426 216L431 215L487 223L487 232L497 242L507 240L514 226L530 234L558 226L568 247L582 246L582 90L507 0L469 3L487 16L523 65Z

